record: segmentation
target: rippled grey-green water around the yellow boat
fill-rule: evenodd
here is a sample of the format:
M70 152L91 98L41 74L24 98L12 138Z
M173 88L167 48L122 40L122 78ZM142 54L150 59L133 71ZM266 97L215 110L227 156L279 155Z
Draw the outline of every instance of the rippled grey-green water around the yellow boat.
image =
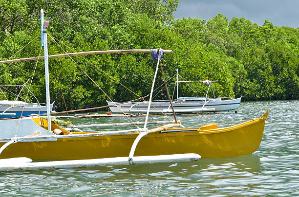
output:
M260 117L266 109L269 121L299 138L299 100L242 102L238 113L181 115L178 119L185 126L225 123ZM131 119L144 121L144 117ZM168 118L149 118L155 120ZM76 125L128 122L124 117L71 121ZM227 125L232 123L221 124ZM299 196L299 140L266 122L262 142L252 155L188 163L0 172L0 196L16 195Z

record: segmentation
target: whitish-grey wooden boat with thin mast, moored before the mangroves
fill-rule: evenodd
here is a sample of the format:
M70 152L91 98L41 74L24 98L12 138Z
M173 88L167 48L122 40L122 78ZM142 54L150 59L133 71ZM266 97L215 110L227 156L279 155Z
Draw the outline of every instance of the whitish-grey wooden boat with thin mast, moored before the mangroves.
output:
M172 99L171 103L176 113L194 113L194 112L211 112L211 111L231 111L236 110L241 103L241 97L233 99L232 97L218 97L209 98L207 97L212 85L213 95L214 87L213 82L218 81L179 81L179 73L177 71L175 87L176 87L176 99ZM182 78L182 76L180 76ZM182 78L183 79L183 78ZM178 86L179 83L202 83L209 85L205 97L178 97ZM148 101L141 102L128 102L120 104L117 102L107 101L110 106L111 112L129 112L129 113L147 113ZM116 105L118 104L118 105ZM168 100L152 101L149 113L172 113L171 105Z

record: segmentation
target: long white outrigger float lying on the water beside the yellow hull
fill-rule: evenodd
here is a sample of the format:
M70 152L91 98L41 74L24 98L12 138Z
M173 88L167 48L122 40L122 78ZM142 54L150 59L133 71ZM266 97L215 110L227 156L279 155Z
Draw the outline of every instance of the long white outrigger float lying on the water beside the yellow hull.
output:
M134 157L134 164L187 162L187 161L197 161L200 158L201 156L195 153L141 156L141 157ZM0 171L98 167L98 166L128 165L128 164L129 164L128 157L104 158L104 159L93 159L93 160L14 163L9 165L0 163Z

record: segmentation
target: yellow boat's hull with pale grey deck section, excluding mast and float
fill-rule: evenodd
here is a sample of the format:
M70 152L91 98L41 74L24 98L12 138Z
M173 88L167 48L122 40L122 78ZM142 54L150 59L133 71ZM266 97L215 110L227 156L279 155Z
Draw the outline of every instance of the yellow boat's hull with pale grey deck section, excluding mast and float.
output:
M19 120L0 120L3 129L0 146L16 140L5 148L0 158L28 157L33 160L79 160L110 157L128 157L131 146L139 133L146 132L138 143L135 156L197 153L203 158L224 158L252 154L258 148L264 131L268 111L261 117L230 127L218 128L217 124L201 127L171 128L170 124L155 129L71 133L60 129L63 135L48 131L45 118L21 120L18 138L5 130L17 130ZM11 125L16 125L11 128ZM30 128L27 126L30 125Z

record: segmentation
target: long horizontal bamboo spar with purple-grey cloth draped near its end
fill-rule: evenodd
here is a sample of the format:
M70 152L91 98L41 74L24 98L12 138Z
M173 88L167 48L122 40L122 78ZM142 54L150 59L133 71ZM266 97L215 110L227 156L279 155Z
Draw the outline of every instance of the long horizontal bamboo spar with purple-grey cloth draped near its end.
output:
M172 54L171 50L164 50L164 54ZM150 49L128 49L128 50L108 50L108 51L88 51L88 52L78 52L78 53L70 53L70 54L56 54L49 55L48 58L57 58L57 57L68 57L68 56L78 56L78 55L87 55L87 54L128 54L128 53L147 53L150 54ZM4 60L0 61L0 64L4 63L12 63L12 62L24 62L24 61L32 61L37 59L44 59L44 56L41 57L28 57L21 59L12 59L12 60Z

